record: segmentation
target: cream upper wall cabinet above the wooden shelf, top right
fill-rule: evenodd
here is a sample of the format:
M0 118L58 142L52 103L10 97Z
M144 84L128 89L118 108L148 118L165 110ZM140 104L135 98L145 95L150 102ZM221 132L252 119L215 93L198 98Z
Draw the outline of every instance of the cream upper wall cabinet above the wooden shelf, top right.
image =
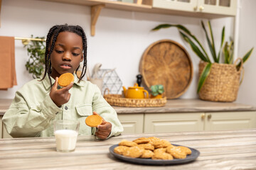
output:
M235 16L237 0L154 0L152 7Z

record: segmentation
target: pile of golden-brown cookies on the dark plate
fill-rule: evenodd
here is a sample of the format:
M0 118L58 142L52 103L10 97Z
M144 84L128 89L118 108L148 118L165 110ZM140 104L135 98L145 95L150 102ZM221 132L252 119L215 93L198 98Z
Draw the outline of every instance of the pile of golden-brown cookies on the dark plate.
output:
M167 140L158 137L140 137L133 141L122 140L114 148L114 153L132 158L148 159L185 159L191 154L191 149L183 146L174 146Z

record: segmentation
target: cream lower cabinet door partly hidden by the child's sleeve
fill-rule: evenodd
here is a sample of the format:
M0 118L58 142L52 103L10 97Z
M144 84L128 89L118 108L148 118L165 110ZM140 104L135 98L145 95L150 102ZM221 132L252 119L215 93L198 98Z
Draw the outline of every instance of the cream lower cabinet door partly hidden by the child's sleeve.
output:
M143 133L144 114L118 114L120 122L124 127L122 133Z

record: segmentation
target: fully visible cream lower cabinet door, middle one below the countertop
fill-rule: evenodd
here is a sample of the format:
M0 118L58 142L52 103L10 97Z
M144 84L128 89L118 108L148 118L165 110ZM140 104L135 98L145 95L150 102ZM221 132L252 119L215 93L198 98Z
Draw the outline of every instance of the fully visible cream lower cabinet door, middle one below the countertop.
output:
M145 133L203 130L204 113L146 113Z

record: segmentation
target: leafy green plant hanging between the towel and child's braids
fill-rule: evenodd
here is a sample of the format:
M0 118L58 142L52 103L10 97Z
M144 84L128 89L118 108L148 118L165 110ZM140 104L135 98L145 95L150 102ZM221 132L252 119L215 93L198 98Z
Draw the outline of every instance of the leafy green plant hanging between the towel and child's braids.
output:
M33 35L31 35L33 38ZM36 37L38 38L38 37ZM44 37L40 39L44 40ZM31 40L24 45L28 52L28 61L26 62L26 70L32 74L33 79L41 77L45 67L46 45L44 41Z

